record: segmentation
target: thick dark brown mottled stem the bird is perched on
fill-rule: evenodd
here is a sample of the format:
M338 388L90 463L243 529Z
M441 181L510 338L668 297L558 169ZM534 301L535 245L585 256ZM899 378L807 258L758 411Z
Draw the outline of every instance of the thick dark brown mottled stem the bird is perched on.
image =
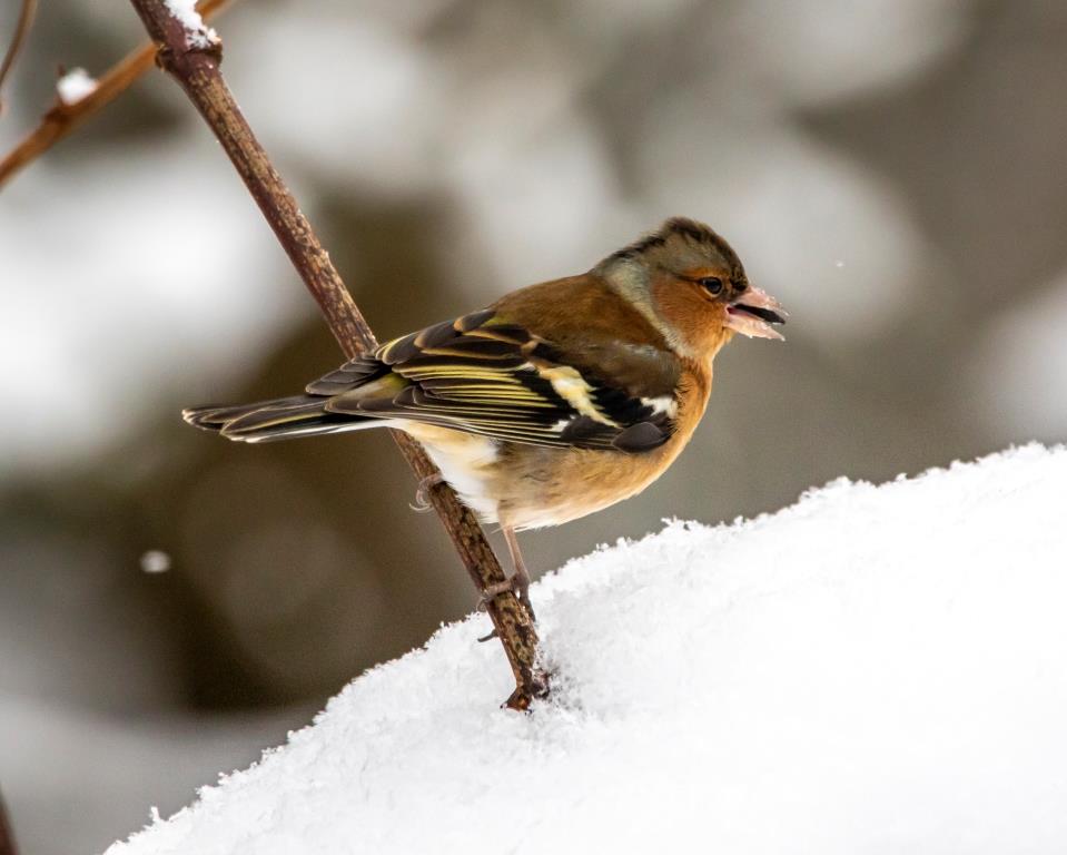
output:
M188 21L178 20L165 0L131 2L148 35L159 45L159 63L185 89L226 149L304 284L318 302L345 355L352 358L373 350L377 342L371 327L223 79L218 39L202 26L187 29ZM437 473L418 443L398 431L393 432L393 438L419 480ZM478 591L503 582L504 571L471 511L444 484L428 492ZM487 603L487 611L515 675L515 691L506 704L514 709L526 709L534 698L547 691L547 681L536 661L537 636L533 622L511 592L494 597Z

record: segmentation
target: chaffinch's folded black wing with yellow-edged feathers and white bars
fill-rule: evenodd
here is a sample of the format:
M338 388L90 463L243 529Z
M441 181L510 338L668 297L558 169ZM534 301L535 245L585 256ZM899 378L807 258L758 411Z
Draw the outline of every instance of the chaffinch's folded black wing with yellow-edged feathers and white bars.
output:
M678 371L649 345L564 348L485 309L388 342L307 391L328 396L332 413L635 453L673 432Z

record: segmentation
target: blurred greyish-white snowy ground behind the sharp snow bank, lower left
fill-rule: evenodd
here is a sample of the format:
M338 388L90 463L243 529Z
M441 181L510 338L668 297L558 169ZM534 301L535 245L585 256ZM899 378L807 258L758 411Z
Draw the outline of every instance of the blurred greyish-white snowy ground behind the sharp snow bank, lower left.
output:
M124 678L120 667L111 674L116 682ZM115 837L116 827L141 822L144 812L141 805L134 808L135 794L159 793L162 787L171 792L160 796L178 807L188 796L176 798L177 794L191 793L202 783L206 768L249 763L256 756L249 744L283 738L299 720L297 715L294 709L226 717L141 710L122 717L57 702L55 697L2 692L0 733L6 738L0 745L0 773L19 852L97 852ZM58 775L71 768L89 770L92 785Z

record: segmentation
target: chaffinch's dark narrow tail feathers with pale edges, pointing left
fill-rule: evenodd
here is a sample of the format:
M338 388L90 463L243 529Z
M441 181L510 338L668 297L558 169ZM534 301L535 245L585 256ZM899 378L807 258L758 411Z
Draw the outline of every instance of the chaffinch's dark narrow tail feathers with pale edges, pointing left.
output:
M194 406L184 410L181 417L194 428L217 431L239 442L274 442L383 425L378 419L328 412L328 400L294 395L236 406Z

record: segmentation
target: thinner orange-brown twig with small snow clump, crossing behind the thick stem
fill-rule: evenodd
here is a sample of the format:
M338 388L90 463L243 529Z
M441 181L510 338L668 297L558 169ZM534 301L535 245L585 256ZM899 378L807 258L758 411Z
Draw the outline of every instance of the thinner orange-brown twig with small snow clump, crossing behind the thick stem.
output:
M197 7L205 18L210 18L226 6L228 0L201 0ZM73 104L63 104L59 98L41 117L41 124L0 160L0 187L27 164L43 155L86 119L113 101L119 95L152 66L156 58L155 42L148 42L127 53L119 62L97 80L97 88Z

